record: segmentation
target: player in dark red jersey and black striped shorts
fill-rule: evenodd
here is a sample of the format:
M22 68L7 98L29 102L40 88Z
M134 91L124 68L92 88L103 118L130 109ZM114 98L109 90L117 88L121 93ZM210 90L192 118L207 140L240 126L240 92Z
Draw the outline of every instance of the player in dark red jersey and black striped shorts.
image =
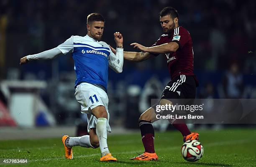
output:
M179 14L173 7L165 7L160 12L160 23L164 34L151 47L145 47L138 43L131 46L142 52L124 52L126 60L141 62L159 54L165 54L167 66L172 80L166 85L160 105L171 104L170 99L194 99L198 85L193 73L193 48L189 32L179 26ZM115 50L112 48L113 52ZM169 100L168 100L169 99ZM154 128L151 123L156 121L155 106L141 114L139 126L141 129L142 142L145 152L131 160L158 160L154 150ZM182 133L184 141L198 140L198 133L190 132L187 125L182 121L172 120L172 125Z

